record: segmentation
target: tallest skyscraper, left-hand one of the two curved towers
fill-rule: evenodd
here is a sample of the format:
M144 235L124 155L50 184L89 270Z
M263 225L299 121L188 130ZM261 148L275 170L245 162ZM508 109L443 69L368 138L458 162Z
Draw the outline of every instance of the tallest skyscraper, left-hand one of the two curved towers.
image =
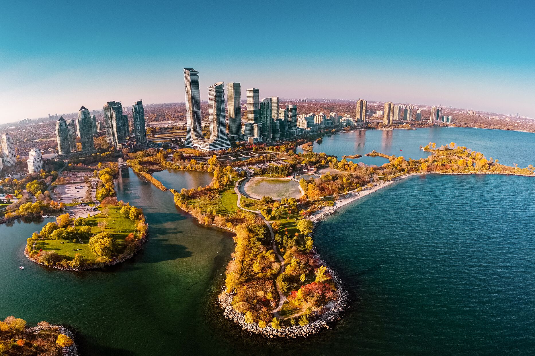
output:
M193 68L184 68L186 90L186 147L194 147L194 141L202 141L201 95L199 73Z

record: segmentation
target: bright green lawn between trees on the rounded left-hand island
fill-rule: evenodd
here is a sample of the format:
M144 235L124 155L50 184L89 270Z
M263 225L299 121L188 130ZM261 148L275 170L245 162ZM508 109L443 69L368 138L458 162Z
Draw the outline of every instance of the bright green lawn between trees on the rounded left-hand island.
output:
M98 208L99 210L104 210L103 208ZM122 217L119 213L119 207L109 207L108 215L104 216L103 213L94 215L92 217L86 218L86 225L91 226L91 232L93 234L101 232L101 229L98 228L98 223L105 221L107 225L104 228L105 232L109 232L111 236L117 240L118 248L114 255L118 255L124 252L125 250L125 238L129 233L135 232L134 222L129 219ZM95 260L95 255L89 249L87 243L89 239L82 240L83 244L80 244L80 241L77 239L75 243L72 240L39 240L35 244L35 249L43 249L44 251L56 251L57 254L64 256L67 259L72 259L75 254L80 253L87 260ZM78 250L81 248L81 250Z

